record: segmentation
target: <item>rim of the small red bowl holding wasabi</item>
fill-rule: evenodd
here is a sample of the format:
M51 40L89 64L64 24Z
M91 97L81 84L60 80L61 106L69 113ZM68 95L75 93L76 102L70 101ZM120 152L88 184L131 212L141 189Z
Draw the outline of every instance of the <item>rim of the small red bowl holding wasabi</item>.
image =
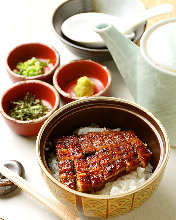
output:
M78 60L72 60L70 62L67 62L66 64L62 65L62 66L59 66L54 75L53 75L53 85L54 87L56 88L56 90L62 95L64 96L65 98L68 98L68 99L71 99L71 100L80 100L80 99L83 99L85 97L88 98L88 96L84 96L84 97L77 97L77 96L72 96L70 95L69 93L66 93L65 91L63 91L61 89L61 87L58 85L58 82L57 82L57 76L59 74L59 71L64 68L65 66L67 65L70 65L72 63L80 63L80 62L90 62L90 63L94 63L100 67L103 68L103 70L106 72L106 75L108 76L108 82L107 82L107 85L104 87L103 90L101 90L100 92L92 95L92 96L89 96L89 97L97 97L97 96L102 96L108 89L110 89L111 85L112 85L112 74L110 72L110 70L105 66L105 65L102 65L100 64L99 62L96 62L96 61L93 61L91 59L78 59Z

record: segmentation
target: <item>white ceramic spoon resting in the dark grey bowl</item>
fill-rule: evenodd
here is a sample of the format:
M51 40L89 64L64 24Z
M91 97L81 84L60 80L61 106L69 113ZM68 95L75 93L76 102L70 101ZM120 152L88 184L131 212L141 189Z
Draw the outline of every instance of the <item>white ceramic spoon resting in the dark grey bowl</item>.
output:
M65 36L81 45L90 48L100 48L105 47L105 43L102 38L93 31L93 27L95 27L96 24L111 23L121 33L125 34L129 39L132 39L135 36L133 32L134 27L149 18L169 13L172 9L173 6L171 4L162 4L126 18L96 12L80 13L65 20L61 26L61 30Z

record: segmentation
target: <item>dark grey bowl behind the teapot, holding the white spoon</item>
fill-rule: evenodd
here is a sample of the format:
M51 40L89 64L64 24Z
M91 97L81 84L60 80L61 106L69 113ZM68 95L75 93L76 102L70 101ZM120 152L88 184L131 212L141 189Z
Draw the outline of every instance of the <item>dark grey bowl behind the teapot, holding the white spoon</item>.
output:
M72 15L84 12L101 12L119 17L125 17L132 13L145 10L139 0L68 0L59 5L53 13L52 25L61 42L74 54L84 59L105 61L112 59L109 50L105 48L88 48L69 38L61 31L62 23ZM96 21L95 21L96 22ZM136 42L142 35L145 22L140 24L135 31Z

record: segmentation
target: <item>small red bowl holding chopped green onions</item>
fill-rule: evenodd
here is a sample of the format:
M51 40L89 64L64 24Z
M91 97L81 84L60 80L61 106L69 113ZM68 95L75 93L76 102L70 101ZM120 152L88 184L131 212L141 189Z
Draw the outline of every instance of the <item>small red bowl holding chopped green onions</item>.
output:
M17 63L25 62L32 57L42 60L50 60L44 73L38 76L27 77L14 72ZM7 72L13 82L25 80L42 80L52 83L52 77L57 67L60 65L60 55L52 47L43 43L26 43L13 48L7 56L6 67Z

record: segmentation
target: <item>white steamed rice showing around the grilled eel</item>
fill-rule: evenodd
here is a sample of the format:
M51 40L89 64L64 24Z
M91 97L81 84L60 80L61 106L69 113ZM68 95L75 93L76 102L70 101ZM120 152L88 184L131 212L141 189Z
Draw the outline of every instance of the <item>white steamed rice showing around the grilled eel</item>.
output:
M97 125L91 125L89 127L81 127L77 129L74 134L82 135L87 132L101 132L106 128L99 128ZM120 129L113 129L119 131ZM49 168L56 179L59 179L58 160L55 153L50 154L48 160ZM94 192L96 195L117 195L136 189L142 185L152 175L152 166L150 163L145 168L138 167L136 171L131 172L128 175L119 177L114 182L108 182L105 188L101 191Z

